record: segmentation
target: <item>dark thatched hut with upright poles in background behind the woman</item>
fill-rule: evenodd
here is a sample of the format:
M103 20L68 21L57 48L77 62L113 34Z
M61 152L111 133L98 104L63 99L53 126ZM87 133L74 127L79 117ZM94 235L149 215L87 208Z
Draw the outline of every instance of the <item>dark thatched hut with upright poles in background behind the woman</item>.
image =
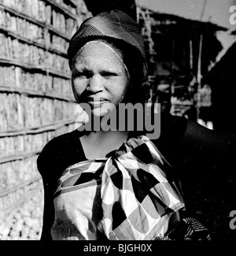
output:
M210 22L137 8L149 50L153 102L175 115L211 121L211 87L202 77L216 63L222 45L216 32L227 31Z

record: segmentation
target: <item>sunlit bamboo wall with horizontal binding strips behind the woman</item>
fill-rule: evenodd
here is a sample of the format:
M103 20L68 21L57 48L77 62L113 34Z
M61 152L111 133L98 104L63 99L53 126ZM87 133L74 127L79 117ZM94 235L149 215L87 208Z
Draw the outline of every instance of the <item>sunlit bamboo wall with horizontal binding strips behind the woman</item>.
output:
M43 189L36 159L50 139L75 128L66 51L86 16L82 0L0 0L2 240L40 238Z

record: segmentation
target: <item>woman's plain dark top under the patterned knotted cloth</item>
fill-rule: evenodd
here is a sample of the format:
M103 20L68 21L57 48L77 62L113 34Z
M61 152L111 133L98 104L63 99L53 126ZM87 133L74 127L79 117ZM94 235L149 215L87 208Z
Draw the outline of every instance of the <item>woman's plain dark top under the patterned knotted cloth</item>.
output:
M160 137L152 140L173 167L183 186L186 210L212 232L213 238L232 239L230 211L236 210L236 137L219 134L185 117L161 113ZM42 239L51 239L53 193L62 171L87 160L77 130L50 140L37 161L44 185ZM234 236L233 236L234 235Z

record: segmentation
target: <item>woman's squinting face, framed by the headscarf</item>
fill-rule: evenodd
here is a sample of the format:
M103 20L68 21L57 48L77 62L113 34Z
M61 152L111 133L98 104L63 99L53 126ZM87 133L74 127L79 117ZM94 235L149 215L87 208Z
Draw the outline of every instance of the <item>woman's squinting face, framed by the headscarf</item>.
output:
M72 67L76 101L89 104L92 114L101 117L122 102L130 81L121 54L108 45L98 41L85 44Z

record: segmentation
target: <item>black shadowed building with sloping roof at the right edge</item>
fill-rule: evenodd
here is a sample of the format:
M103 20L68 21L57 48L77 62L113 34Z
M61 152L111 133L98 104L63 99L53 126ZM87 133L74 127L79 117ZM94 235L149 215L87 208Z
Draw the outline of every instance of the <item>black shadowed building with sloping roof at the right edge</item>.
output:
M236 35L236 31L232 32ZM236 42L203 77L203 83L212 87L212 122L219 132L236 134Z

